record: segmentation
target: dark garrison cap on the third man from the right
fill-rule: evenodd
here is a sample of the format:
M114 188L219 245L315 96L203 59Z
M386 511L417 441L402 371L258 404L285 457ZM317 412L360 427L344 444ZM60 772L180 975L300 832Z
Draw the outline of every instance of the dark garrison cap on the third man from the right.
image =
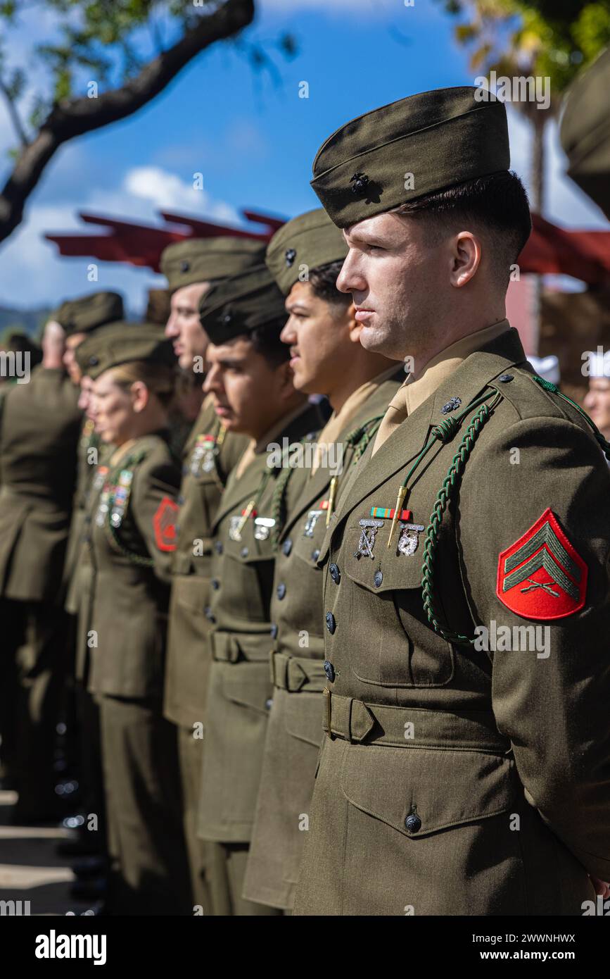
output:
M265 264L224 279L199 303L201 326L217 345L271 323L280 332L286 317L283 295Z

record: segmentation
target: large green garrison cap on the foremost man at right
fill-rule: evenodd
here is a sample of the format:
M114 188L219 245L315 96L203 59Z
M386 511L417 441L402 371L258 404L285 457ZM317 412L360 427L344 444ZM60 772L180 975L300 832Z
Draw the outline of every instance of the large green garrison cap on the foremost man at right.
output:
M311 184L346 228L509 166L503 104L470 86L439 88L346 122L318 151Z

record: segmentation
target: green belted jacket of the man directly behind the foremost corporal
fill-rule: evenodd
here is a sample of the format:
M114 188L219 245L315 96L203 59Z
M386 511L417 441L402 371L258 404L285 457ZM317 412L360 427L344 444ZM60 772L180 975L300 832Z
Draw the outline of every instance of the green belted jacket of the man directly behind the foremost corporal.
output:
M323 573L318 558L328 504L340 498L359 454L405 380L402 364L356 410L337 439L342 466L295 469L286 487L286 519L279 540L271 601L273 703L244 896L290 909L306 836L314 772L322 740L324 671ZM346 442L345 440L348 440ZM328 456L330 463L336 459ZM332 488L331 488L332 486Z

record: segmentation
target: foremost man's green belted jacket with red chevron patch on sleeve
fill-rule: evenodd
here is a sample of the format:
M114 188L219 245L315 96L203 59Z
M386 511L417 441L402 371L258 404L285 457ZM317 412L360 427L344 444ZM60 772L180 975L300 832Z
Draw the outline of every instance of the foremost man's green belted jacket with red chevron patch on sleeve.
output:
M469 407L482 394L489 416ZM388 546L371 509L408 476L429 531ZM320 555L327 736L296 914L593 900L588 874L610 874L609 500L587 421L514 330L363 456Z

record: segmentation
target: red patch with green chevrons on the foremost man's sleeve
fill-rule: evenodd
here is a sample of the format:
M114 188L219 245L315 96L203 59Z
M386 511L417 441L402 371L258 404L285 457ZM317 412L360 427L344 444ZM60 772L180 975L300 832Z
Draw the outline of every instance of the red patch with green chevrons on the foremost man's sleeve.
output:
M496 594L524 619L563 619L583 608L588 567L548 507L501 551Z

